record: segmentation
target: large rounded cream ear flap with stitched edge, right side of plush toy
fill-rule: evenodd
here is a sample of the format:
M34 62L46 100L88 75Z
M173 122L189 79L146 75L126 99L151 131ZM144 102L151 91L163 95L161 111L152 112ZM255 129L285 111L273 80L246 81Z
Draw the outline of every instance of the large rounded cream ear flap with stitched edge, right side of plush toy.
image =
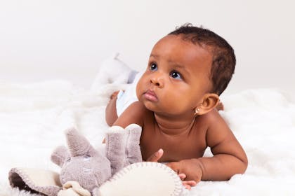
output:
M100 196L184 196L187 190L169 167L157 162L137 162L114 174L99 192Z

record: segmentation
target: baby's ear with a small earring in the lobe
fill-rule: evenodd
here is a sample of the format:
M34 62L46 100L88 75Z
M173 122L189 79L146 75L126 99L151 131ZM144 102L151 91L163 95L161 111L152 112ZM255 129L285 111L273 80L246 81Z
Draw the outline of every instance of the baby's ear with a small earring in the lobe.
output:
M197 115L203 115L214 109L219 103L219 96L215 93L207 93L203 97L202 104L195 109Z

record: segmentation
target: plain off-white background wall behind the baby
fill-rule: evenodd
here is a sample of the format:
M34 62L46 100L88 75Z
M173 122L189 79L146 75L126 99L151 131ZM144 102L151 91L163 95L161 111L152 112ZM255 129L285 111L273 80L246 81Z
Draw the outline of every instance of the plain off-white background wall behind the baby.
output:
M294 91L294 2L0 0L0 82L67 79L89 87L113 52L143 70L152 45L191 22L235 49L228 92Z

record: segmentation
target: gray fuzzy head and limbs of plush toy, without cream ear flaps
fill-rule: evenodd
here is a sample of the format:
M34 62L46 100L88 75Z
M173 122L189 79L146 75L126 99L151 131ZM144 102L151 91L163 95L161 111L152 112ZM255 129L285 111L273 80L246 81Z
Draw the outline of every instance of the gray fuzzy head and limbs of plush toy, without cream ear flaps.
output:
M51 160L61 167L60 183L64 186L69 181L75 181L82 189L84 188L80 192L74 190L80 195L97 195L98 188L113 174L127 165L142 161L140 134L141 127L136 124L131 124L125 129L118 126L110 127L105 137L104 155L96 151L77 130L67 130L69 151L65 146L59 146L51 155ZM89 193L85 193L85 190ZM58 195L69 195L62 192L63 190L60 190Z

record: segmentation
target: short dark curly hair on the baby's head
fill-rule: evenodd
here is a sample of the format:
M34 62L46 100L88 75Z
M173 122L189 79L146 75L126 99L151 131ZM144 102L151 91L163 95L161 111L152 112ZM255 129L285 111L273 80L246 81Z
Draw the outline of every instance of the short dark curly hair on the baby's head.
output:
M213 83L211 92L220 95L230 83L232 74L235 71L235 52L230 44L209 29L194 27L190 23L176 27L176 30L169 33L169 35L181 35L184 40L191 41L204 48L209 47L212 54L209 76Z

